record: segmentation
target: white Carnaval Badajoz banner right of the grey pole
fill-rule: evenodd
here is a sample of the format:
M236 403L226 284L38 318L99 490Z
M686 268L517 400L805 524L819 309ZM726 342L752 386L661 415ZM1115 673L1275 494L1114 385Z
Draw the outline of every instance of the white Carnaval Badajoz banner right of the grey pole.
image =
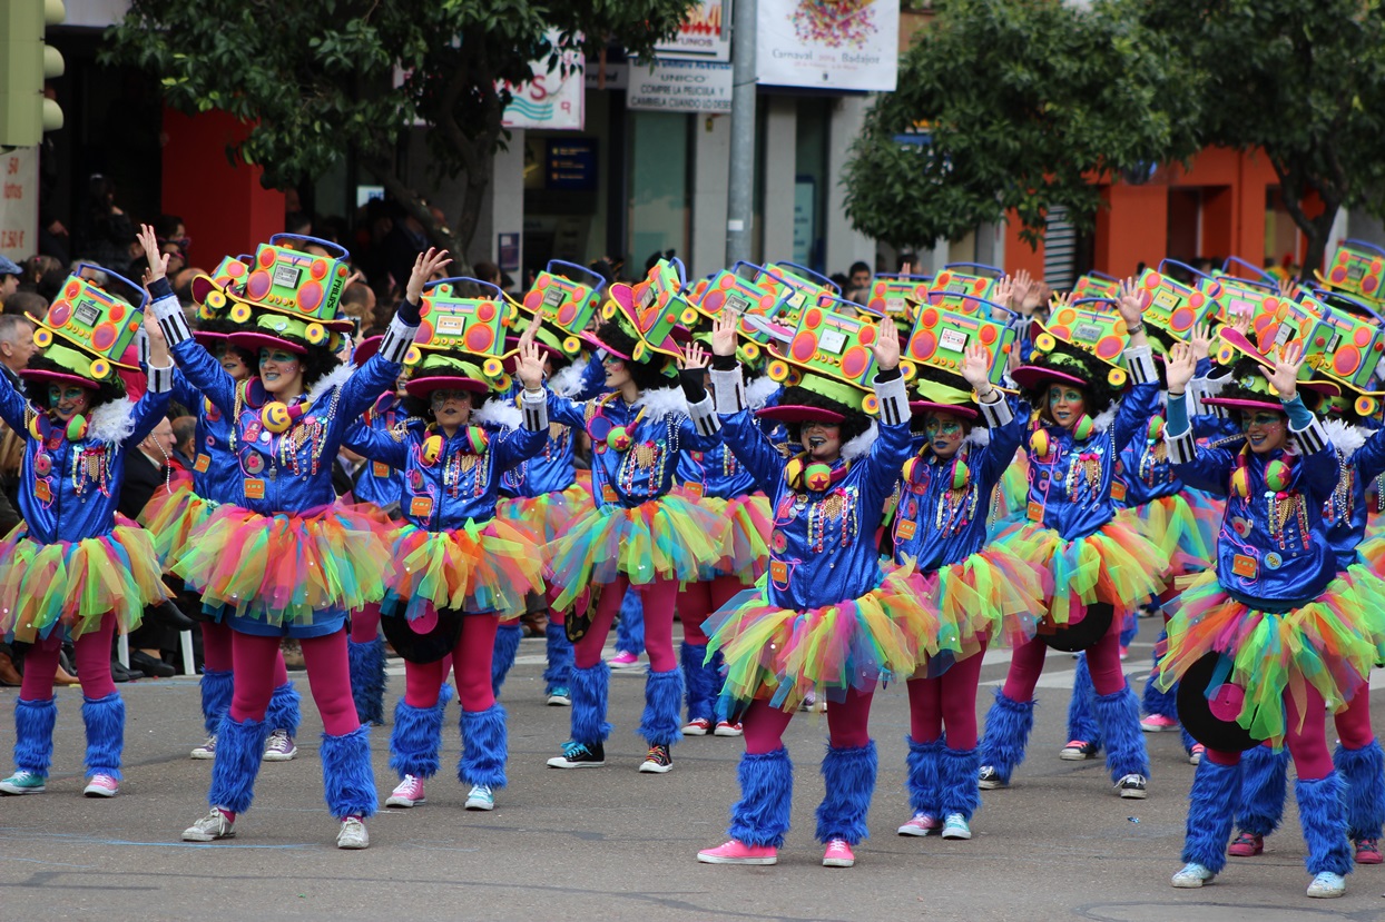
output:
M762 84L885 93L897 65L899 0L759 0Z

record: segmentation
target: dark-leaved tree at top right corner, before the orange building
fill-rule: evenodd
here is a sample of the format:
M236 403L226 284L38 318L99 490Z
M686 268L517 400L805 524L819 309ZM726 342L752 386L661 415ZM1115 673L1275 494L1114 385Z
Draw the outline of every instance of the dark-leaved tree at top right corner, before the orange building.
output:
M1323 264L1341 208L1385 217L1385 7L1379 0L1120 0L1169 36L1198 97L1204 145L1265 151ZM1303 205L1316 194L1321 212Z

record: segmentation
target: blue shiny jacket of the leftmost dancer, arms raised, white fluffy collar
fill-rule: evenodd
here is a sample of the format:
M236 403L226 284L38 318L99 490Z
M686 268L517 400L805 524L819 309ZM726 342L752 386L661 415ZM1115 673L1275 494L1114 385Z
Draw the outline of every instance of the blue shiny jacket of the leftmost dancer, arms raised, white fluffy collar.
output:
M150 370L150 389L143 397L133 404L122 397L97 407L86 437L69 442L61 426L47 426L47 414L30 406L7 375L0 375L0 417L25 440L19 514L30 539L53 544L111 533L125 479L125 457L137 450L136 446L168 414L172 386L172 368ZM122 413L129 414L123 425ZM46 433L42 440L29 433L29 421L35 418L42 419Z

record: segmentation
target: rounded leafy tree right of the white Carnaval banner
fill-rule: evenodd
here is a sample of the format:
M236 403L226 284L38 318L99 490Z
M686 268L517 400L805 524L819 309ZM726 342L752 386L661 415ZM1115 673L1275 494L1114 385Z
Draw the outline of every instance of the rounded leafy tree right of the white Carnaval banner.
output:
M1062 208L1089 231L1093 180L1190 156L1195 107L1173 36L1111 3L938 0L846 166L846 213L895 246L957 239L1014 209L1042 239Z

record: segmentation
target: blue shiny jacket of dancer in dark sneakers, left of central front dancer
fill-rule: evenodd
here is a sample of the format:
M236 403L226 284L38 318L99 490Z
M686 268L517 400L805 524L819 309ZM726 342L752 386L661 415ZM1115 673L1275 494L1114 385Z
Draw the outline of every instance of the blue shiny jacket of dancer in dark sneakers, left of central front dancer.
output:
M593 436L591 491L597 505L634 508L677 486L680 454L709 451L720 444L720 435L699 432L687 413L673 408L680 403L686 406L677 388L647 392L634 404L627 404L619 393L586 403L550 395L548 415ZM629 449L619 451L608 439L597 437L604 436L607 425L625 426Z

